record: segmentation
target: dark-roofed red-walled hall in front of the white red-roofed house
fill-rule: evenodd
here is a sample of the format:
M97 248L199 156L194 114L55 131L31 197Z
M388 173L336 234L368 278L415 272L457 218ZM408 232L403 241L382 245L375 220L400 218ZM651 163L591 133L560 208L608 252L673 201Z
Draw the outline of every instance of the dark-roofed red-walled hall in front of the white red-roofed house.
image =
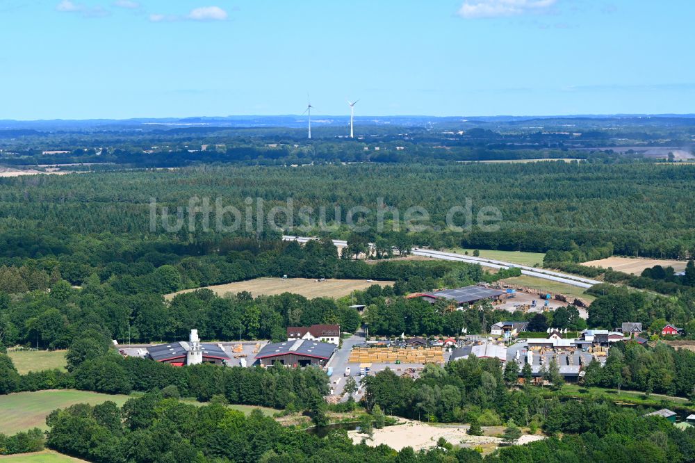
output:
M266 344L256 359L262 366L272 366L275 362L286 366L325 366L335 351L336 345L332 343L295 339Z

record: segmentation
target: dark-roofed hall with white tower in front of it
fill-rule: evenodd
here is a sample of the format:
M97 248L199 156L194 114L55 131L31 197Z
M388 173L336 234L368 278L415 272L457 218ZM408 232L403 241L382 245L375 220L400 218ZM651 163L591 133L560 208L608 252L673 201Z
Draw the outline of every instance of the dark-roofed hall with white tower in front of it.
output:
M229 355L218 344L200 343L198 330L190 330L188 342L179 341L170 344L158 344L147 348L147 357L155 362L173 366L211 363L222 365L229 360Z

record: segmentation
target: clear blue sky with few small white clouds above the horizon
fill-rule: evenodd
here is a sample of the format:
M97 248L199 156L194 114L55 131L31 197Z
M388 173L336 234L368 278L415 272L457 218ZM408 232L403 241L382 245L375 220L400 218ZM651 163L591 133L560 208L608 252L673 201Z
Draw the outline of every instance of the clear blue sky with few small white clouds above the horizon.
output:
M0 119L695 113L695 1L0 0Z

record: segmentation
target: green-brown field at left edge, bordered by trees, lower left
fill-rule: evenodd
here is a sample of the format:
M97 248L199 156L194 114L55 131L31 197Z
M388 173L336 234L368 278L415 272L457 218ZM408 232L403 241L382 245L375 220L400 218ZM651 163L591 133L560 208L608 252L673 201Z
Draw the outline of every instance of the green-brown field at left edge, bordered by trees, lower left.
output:
M48 429L46 416L56 408L65 408L76 403L97 405L107 400L121 406L129 398L71 389L7 394L0 396L0 432L15 434L31 428Z

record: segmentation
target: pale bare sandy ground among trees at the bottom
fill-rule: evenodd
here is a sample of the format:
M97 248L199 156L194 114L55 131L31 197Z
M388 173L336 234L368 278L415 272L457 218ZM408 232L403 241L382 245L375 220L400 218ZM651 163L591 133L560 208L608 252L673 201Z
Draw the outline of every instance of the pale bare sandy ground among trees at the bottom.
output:
M436 446L436 441L440 437L446 439L450 444L464 447L482 446L484 444L499 446L502 443L502 439L499 437L469 436L466 434L468 425L428 425L406 419L400 419L399 421L404 424L375 429L373 439L366 439L366 444L374 447L386 444L395 450L401 450L404 447L420 450ZM349 431L347 434L355 444L359 444L366 437L365 434L360 434L357 431ZM528 444L528 442L541 439L545 439L545 437L539 435L522 436L518 440L518 444Z

